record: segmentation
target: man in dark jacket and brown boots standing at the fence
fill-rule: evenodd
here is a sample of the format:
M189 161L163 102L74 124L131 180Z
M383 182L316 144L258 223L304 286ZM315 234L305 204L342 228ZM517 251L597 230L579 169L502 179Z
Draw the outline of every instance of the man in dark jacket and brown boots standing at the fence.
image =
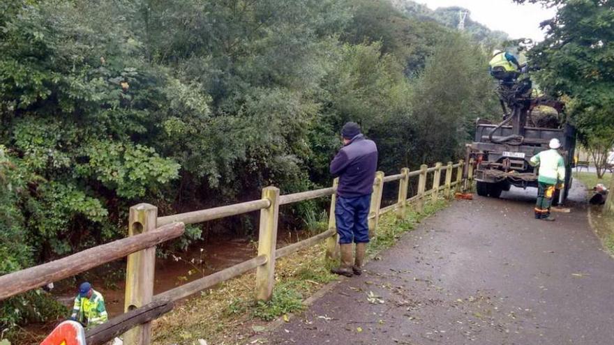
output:
M331 162L331 174L339 177L335 220L341 264L332 273L352 277L361 275L369 242L368 215L377 169L377 146L365 139L354 122L343 125L343 148ZM352 265L352 243L356 243L356 258Z

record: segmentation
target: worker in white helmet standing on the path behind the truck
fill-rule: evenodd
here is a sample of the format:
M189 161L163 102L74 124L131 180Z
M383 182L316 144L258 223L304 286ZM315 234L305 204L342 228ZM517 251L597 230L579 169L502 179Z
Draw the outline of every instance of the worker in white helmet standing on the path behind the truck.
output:
M551 139L548 144L550 150L541 151L534 155L530 164L539 166L537 178L537 204L535 205L535 219L553 221L550 208L555 189L562 190L565 181L565 162L557 149L561 147L559 139Z

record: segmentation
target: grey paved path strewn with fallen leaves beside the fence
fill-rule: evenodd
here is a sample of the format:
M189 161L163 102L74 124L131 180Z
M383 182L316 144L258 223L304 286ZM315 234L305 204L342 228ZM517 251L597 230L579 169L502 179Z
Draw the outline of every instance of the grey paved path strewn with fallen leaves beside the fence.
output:
M614 260L581 186L552 223L533 219L533 192L455 201L269 344L614 344Z

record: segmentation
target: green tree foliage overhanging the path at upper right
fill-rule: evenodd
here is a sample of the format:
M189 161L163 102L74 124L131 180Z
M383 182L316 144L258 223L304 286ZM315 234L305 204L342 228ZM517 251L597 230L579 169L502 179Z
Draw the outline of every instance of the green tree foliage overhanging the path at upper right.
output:
M614 1L530 2L558 6L557 15L542 23L546 39L528 54L541 68L539 85L569 99L582 144L601 158L595 163L603 165L614 146Z

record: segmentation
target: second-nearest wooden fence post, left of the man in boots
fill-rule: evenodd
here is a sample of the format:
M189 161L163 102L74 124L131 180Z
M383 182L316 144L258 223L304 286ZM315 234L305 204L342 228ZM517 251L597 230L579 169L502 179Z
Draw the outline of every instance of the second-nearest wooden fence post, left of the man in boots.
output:
M275 284L275 250L277 242L277 221L279 215L279 188L265 187L262 199L271 201L271 206L260 210L258 234L258 256L267 256L267 263L256 268L256 299L270 300Z

